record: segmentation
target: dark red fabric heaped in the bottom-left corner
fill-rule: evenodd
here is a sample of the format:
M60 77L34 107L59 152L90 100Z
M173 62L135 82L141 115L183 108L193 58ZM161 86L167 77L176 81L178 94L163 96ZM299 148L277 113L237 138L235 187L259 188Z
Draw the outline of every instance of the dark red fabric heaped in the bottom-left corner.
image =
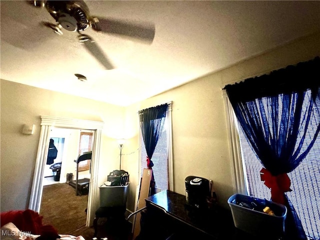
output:
M46 239L60 238L53 226L42 225L42 216L30 209L1 212L1 226L8 222L12 222L21 231L30 231L32 234L41 235Z

